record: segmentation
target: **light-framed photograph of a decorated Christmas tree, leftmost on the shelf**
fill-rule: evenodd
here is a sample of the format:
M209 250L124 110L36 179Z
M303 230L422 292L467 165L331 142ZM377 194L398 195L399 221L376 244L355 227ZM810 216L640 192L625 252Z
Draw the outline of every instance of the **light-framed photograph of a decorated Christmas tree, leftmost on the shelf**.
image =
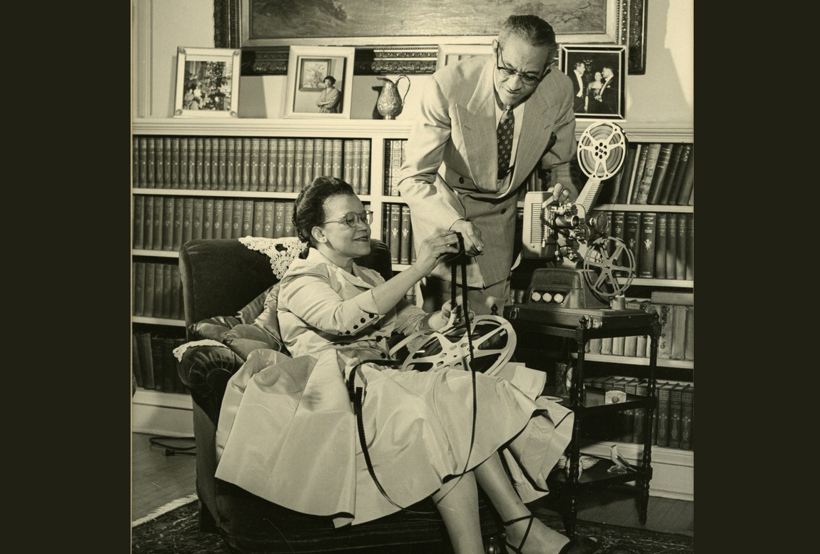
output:
M174 117L238 117L241 53L238 48L177 48Z

